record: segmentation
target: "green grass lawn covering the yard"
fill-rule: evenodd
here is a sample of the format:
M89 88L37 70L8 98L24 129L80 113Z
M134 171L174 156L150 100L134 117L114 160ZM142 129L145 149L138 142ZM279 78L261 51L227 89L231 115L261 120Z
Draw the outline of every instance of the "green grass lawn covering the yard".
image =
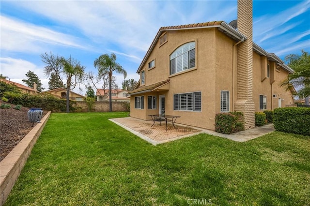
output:
M309 136L153 146L108 120L126 116L53 113L5 205L310 205Z

